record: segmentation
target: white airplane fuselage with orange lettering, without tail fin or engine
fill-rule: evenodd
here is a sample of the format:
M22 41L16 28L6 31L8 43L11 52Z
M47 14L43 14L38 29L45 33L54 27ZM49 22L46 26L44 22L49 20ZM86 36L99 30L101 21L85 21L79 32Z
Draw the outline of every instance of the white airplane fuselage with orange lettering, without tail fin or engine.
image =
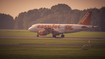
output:
M92 28L91 25L78 25L78 24L34 24L28 30L31 32L38 32L45 30L44 28L52 28L54 31L62 33L72 33Z

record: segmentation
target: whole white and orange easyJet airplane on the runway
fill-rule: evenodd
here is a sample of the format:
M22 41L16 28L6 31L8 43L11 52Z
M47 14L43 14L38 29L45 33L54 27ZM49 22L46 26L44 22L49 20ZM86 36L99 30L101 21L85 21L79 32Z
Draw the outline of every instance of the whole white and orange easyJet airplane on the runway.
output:
M37 37L52 33L53 37L62 34L61 37L63 38L64 33L74 33L97 27L89 25L91 14L92 11L88 11L78 24L34 24L28 30L30 32L36 32Z

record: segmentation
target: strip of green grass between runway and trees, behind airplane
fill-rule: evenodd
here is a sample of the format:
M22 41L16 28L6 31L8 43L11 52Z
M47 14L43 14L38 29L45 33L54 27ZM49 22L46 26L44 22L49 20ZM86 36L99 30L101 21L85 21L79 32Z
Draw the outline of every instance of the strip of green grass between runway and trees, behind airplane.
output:
M0 29L0 36L36 36L37 33L29 32L28 30L3 30ZM105 32L76 32L66 33L65 37L90 37L90 38L105 38ZM52 37L52 34L46 35ZM60 35L59 35L60 36Z

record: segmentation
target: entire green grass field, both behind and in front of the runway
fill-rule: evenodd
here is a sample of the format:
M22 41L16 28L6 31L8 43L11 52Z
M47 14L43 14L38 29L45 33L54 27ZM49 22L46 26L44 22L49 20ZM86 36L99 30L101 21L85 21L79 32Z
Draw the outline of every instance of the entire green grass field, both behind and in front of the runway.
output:
M0 30L0 36L35 35L36 33L27 30ZM65 36L105 38L105 32L77 32L65 34ZM88 40L0 38L0 59L105 59L105 40L90 40L90 42L92 46L86 46L82 50L81 45L87 45ZM15 44L46 44L47 46ZM71 46L49 46L50 44L69 44Z

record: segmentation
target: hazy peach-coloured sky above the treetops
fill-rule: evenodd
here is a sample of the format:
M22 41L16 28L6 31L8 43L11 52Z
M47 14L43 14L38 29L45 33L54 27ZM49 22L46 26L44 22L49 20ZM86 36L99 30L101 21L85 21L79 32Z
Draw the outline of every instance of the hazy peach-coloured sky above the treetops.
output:
M0 13L10 14L15 18L19 13L31 9L51 8L53 5L67 4L72 9L105 7L105 0L0 0Z

